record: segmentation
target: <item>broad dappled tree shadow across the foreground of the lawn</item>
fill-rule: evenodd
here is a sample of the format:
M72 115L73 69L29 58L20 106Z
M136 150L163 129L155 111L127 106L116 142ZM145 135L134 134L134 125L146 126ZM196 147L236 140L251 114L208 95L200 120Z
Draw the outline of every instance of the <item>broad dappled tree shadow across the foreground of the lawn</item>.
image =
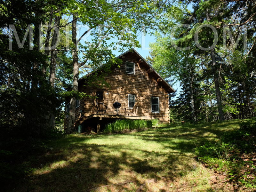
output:
M138 188L145 179L160 180L158 172L167 170L172 178L187 166L183 153L133 151L119 145L71 144L38 157L36 162L34 159L34 168L38 170L21 180L15 191L88 191L127 180ZM161 162L162 158L165 159ZM117 190L130 191L131 187L120 186Z

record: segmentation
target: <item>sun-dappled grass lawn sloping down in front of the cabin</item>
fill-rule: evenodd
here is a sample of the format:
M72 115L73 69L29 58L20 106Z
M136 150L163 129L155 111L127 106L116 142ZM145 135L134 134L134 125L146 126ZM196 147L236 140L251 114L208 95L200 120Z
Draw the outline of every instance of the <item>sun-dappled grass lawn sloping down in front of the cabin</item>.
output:
M221 175L196 162L193 149L240 122L68 135L30 158L33 171L17 181L14 191L136 191L142 184L140 191L231 191Z

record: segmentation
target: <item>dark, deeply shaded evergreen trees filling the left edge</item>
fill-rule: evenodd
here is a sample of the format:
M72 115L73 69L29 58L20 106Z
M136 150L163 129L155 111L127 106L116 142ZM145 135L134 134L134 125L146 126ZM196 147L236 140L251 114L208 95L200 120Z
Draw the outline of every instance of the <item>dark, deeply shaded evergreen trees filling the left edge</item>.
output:
M3 109L0 119L3 130L15 130L18 137L26 134L41 137L54 128L49 127L49 116L62 101L60 89L52 87L46 77L49 52L40 50L39 25L51 24L57 8L64 5L65 1L1 1L0 46L4 51L0 53L0 106ZM31 23L34 35L28 34L23 48L19 48L16 40L22 41ZM9 24L14 27L9 28ZM17 36L12 35L12 49L9 49L9 33L16 32ZM52 43L50 32L49 29L44 47Z

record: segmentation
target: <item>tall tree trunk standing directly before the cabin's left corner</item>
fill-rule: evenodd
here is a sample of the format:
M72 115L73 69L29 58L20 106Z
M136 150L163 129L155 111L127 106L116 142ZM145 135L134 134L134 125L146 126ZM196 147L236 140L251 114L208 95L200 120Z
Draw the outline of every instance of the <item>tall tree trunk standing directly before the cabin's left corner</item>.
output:
M76 15L74 15L74 14L73 14L73 22L72 22L72 42L75 45L75 47L73 48L74 51L72 52L72 57L73 57L73 87L72 87L72 91L77 91L79 65L78 65L78 54L77 54L77 44L76 44ZM67 133L72 133L74 130L75 113L76 113L76 98L72 97L70 100Z

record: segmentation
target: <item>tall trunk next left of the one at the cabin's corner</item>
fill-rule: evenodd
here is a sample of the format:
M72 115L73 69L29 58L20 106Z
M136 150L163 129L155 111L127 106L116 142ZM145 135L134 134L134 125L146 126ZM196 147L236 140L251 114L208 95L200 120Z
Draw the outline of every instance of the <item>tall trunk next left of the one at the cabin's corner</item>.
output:
M54 30L53 36L52 36L52 48L56 48L56 42L58 41L59 36L59 27L60 26L60 19L61 16L56 16L55 18L55 24L54 26L57 28ZM49 53L48 53L49 54ZM55 76L56 76L56 63L57 63L57 51L51 51L51 64L50 64L50 76L49 81L54 88L54 82L55 82ZM50 127L53 129L55 127L55 112L52 111L50 114Z

